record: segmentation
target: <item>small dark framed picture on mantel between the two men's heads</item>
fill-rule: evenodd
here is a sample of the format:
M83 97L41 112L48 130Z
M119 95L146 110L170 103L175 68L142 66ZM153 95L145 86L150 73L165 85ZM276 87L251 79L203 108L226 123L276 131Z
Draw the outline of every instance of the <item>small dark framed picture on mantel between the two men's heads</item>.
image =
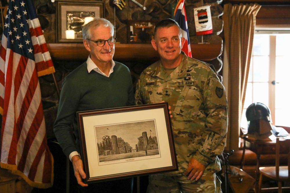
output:
M128 43L151 44L155 23L147 20L128 20Z

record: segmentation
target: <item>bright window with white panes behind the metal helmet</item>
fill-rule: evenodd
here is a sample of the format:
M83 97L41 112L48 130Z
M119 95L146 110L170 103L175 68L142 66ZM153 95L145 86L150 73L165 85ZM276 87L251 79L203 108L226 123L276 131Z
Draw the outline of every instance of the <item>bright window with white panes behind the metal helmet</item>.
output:
M241 127L247 129L247 107L261 102L271 111L272 125L290 126L290 32L256 31L253 41Z

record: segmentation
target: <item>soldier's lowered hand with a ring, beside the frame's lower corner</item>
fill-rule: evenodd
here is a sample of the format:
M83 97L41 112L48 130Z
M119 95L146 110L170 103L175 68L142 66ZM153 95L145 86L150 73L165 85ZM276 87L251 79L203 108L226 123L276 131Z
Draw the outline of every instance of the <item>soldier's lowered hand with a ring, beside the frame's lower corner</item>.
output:
M193 181L195 179L195 181L197 181L201 178L204 170L205 166L192 157L184 174L188 176L188 180Z

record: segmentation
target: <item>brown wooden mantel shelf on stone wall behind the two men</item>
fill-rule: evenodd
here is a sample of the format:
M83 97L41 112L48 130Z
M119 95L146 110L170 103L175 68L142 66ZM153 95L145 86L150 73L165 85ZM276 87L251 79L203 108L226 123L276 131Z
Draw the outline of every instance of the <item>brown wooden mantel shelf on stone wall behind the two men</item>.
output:
M52 60L86 60L89 52L83 43L50 43L48 50ZM191 44L193 58L213 60L222 54L222 44ZM151 44L115 44L114 60L158 60L159 56Z

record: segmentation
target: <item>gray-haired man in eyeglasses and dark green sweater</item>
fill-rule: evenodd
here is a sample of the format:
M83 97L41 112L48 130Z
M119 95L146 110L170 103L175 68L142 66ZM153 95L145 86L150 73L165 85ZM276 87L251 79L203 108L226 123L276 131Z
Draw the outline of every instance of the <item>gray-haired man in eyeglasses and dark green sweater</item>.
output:
M63 80L54 125L55 136L64 154L73 163L81 192L119 192L120 188L124 192L132 192L132 178L90 185L82 181L86 174L79 155L76 112L134 105L130 71L125 65L113 61L116 42L113 25L106 19L95 18L83 26L82 34L90 55Z

